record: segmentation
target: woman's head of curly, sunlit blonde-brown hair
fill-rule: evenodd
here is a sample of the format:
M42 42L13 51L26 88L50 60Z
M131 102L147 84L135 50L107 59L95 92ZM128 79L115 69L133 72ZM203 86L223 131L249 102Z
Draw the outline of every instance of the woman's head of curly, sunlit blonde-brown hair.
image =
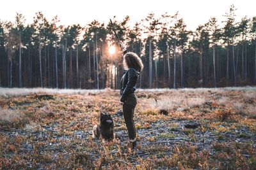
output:
M141 71L143 69L143 64L140 57L133 52L125 53L123 65L124 69L129 69L129 67L132 67L137 71Z

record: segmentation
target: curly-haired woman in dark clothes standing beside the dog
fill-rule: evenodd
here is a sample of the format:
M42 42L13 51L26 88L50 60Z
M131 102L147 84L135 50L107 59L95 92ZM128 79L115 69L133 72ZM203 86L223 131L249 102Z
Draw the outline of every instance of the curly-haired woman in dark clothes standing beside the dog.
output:
M143 69L143 64L136 53L128 52L124 55L123 66L125 72L121 78L120 101L123 104L124 120L128 129L130 143L132 149L134 149L136 146L136 129L133 121L133 113L137 104L134 91L136 90L135 85L140 76L140 71Z

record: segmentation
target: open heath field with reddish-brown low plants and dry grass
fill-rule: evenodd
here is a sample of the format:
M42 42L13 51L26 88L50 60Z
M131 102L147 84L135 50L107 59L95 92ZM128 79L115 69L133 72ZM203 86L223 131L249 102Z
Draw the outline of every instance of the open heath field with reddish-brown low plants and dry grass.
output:
M256 88L136 90L128 147L118 90L0 89L0 169L256 169ZM100 111L116 139L92 139Z

